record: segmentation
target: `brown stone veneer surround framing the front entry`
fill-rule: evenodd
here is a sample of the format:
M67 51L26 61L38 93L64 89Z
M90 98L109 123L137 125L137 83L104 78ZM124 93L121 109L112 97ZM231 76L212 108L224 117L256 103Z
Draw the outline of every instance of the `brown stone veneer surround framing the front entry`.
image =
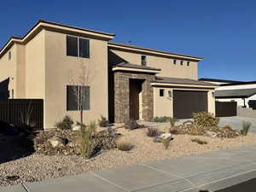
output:
M114 122L123 123L130 119L129 79L143 79L143 119L154 117L153 87L150 83L154 74L114 72Z

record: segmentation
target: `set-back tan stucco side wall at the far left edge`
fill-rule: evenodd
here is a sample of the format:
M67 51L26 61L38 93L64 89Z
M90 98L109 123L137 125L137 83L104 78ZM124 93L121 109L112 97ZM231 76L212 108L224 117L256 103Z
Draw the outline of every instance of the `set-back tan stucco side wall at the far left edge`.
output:
M11 51L11 60L9 60L9 51ZM9 78L9 90L14 90L16 98L16 72L17 72L17 46L14 44L9 51L0 58L0 82ZM11 96L11 91L9 92Z

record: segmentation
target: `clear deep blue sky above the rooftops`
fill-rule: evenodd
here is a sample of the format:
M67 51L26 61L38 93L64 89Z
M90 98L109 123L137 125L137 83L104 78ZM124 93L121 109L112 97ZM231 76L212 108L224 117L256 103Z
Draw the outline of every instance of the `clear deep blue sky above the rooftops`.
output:
M256 80L256 2L24 1L0 4L0 46L38 19L114 32L114 41L204 57L199 77Z

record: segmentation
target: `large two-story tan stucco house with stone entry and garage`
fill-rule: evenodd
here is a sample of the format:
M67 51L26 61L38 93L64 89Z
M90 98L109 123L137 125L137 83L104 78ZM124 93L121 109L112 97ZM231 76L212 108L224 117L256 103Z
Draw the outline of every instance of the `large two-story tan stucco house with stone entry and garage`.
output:
M200 57L109 42L114 34L39 20L0 51L0 81L10 78L14 98L44 99L44 127L70 115L79 119L70 72L89 66L84 120L114 122L154 116L189 118L215 113L216 84L198 81Z

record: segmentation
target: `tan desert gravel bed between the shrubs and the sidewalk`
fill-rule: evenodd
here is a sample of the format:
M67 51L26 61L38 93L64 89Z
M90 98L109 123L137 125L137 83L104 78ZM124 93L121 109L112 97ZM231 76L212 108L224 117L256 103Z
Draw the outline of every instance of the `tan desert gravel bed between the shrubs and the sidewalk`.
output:
M161 127L161 131L167 131ZM103 151L90 160L79 156L32 154L30 156L0 164L0 186L17 183L41 181L50 177L66 177L82 172L96 171L110 167L144 163L151 160L162 160L189 154L201 154L212 150L234 148L243 145L256 144L256 135L236 138L201 137L189 135L175 135L168 150L162 143L154 143L152 137L146 137L145 129L127 131L119 129L123 135L120 140L128 141L135 145L129 152L118 149ZM207 141L206 145L192 143L192 138ZM8 176L19 176L15 181L6 179Z

